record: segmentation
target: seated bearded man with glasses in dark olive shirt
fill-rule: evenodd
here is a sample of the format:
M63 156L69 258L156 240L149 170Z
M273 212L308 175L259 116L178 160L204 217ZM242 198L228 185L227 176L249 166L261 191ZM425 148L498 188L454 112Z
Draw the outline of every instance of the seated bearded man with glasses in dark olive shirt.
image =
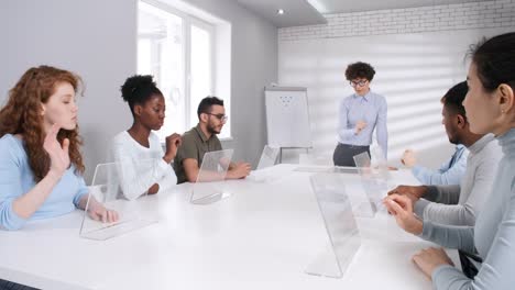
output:
M223 101L217 97L206 97L198 104L198 124L184 133L183 142L174 160L177 183L196 182L208 152L221 150L222 146L217 134L220 134L227 122ZM226 179L245 178L251 171L248 163L231 163Z

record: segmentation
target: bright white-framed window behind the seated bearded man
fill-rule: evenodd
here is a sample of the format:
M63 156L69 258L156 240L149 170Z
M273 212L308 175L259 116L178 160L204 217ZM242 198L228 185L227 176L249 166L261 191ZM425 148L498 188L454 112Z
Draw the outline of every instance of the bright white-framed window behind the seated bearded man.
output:
M139 1L138 74L153 75L166 102L166 119L156 132L164 138L198 123L197 107L216 96L215 25L169 7ZM223 99L229 114L229 96ZM220 137L230 136L226 124Z

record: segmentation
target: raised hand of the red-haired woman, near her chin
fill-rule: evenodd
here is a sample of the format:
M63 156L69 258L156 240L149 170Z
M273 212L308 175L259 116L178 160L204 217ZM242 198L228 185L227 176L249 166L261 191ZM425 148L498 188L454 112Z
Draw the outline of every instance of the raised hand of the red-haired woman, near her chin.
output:
M61 125L52 125L51 131L46 134L43 142L43 148L48 153L51 159L51 167L48 172L54 174L61 178L66 169L69 167L69 140L63 141L63 146L57 141L57 133L59 133Z

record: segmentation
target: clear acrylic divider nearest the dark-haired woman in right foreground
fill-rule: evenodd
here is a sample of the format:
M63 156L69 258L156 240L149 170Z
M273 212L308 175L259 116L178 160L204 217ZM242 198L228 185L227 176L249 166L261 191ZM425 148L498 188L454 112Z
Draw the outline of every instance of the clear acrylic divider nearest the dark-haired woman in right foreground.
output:
M330 246L306 269L307 274L343 277L361 246L358 224L341 175L318 174L310 178L318 208L324 217Z

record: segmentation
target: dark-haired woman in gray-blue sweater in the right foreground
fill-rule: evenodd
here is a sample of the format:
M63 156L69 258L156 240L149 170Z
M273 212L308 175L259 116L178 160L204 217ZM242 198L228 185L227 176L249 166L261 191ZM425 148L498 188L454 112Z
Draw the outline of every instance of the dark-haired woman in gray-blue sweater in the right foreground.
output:
M443 249L429 248L415 255L413 260L431 277L435 289L515 289L515 33L478 45L467 80L469 93L463 105L470 131L493 133L504 153L491 200L475 225L420 221L403 196L390 196L384 204L407 232L472 257L462 259L462 272ZM471 269L473 266L478 271Z

